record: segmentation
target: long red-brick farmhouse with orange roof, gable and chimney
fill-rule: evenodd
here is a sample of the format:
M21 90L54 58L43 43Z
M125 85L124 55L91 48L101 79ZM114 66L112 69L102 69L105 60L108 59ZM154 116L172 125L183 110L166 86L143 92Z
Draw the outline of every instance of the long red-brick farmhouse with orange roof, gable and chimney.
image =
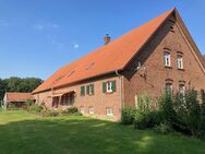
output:
M205 88L205 61L176 9L60 68L33 95L48 108L76 106L118 120L137 96Z

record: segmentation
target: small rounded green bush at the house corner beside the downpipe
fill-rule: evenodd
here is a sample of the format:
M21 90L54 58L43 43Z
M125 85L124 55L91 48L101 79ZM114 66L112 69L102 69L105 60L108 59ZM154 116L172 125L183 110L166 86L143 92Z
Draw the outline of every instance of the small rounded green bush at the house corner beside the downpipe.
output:
M135 107L125 106L121 110L121 123L122 125L132 125L134 121L135 111L136 111Z

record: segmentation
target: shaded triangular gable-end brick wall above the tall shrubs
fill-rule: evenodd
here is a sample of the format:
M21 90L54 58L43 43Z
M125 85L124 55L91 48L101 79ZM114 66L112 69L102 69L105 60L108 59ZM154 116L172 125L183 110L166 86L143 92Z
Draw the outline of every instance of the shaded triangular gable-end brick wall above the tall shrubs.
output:
M154 35L148 45L133 59L124 74L124 102L134 105L135 95L147 93L157 98L165 90L166 80L172 80L173 91L179 90L179 83L183 81L185 86L196 90L205 88L205 74L194 56L190 44L182 33L178 22L171 17ZM170 31L170 27L173 31ZM164 51L169 49L171 67L164 66ZM177 54L182 52L184 70L177 69ZM134 69L142 63L138 71Z

